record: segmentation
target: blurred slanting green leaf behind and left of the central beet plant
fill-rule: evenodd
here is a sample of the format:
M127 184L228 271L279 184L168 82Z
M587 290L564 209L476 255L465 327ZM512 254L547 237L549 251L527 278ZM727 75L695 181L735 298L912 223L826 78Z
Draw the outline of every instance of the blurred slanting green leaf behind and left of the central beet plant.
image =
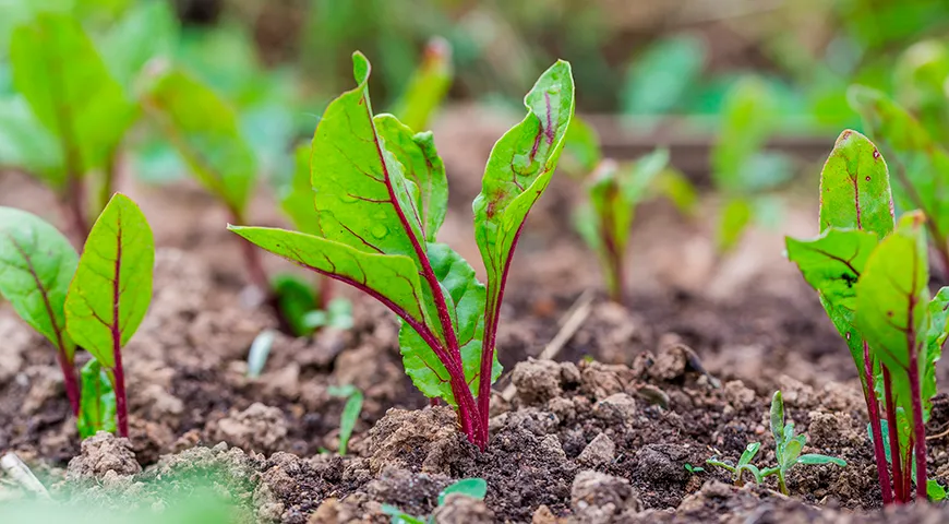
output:
M173 67L149 72L143 107L205 189L241 222L256 179L256 159L235 109Z

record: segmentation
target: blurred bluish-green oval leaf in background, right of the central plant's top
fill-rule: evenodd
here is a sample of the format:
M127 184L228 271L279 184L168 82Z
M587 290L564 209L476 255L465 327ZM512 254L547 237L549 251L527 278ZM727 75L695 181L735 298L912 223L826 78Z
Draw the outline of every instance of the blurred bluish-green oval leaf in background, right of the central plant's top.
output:
M623 112L662 115L674 109L698 81L705 66L705 48L698 37L674 35L636 57L621 93Z

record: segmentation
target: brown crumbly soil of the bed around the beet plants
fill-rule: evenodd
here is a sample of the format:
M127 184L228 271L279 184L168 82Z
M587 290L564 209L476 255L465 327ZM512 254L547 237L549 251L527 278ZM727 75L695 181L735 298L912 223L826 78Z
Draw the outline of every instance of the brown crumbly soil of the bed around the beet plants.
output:
M470 202L509 122L478 115L484 123L472 127L471 118L471 109L448 111L435 130L453 191L441 237L480 271ZM120 189L140 202L159 247L151 309L123 354L131 439L80 442L52 348L0 306L0 452L16 452L57 500L171 511L199 478L242 522L388 522L382 504L458 523L949 520L940 505L879 509L853 364L782 255L783 234L816 230L809 182L784 196L780 228L750 230L725 258L710 240L713 199L693 217L662 202L641 206L621 307L602 297L596 259L564 212L576 182L556 179L531 212L508 279L505 373L481 453L453 412L430 406L403 372L396 319L341 287L353 301L351 330L277 333L263 374L248 378L251 342L276 322L244 286L226 214L191 182L147 187L123 174ZM254 223L283 224L268 199L262 187ZM0 174L0 205L59 222L55 200L19 174ZM290 269L264 258L272 271ZM553 360L534 359L578 315ZM947 374L940 364L944 383ZM345 401L328 393L341 384L365 395L345 457L335 453ZM767 417L778 389L808 436L805 452L848 462L797 466L791 497L771 481L735 487L706 464L735 461L748 442L762 444L759 464L773 464ZM946 428L949 397L940 396L929 431ZM945 484L949 439L927 444L930 476ZM437 507L439 492L465 477L488 481L485 500ZM0 500L20 497L31 493L0 474Z

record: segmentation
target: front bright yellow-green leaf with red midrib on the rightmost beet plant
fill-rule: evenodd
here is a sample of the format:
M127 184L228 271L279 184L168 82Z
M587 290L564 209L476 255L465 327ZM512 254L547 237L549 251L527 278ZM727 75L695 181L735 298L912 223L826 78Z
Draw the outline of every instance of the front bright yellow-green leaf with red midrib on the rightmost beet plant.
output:
M927 319L926 239L921 212L903 215L866 262L856 283L856 326L875 358L889 368L896 403L912 410L910 365L915 358L926 376ZM900 431L900 441L906 434ZM902 454L900 454L902 455Z

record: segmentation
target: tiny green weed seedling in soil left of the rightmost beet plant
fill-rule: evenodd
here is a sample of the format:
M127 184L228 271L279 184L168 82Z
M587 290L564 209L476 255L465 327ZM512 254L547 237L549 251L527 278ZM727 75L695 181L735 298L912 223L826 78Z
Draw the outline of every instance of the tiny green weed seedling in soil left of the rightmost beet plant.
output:
M788 493L788 485L785 483L791 468L797 464L836 464L840 467L846 466L846 462L834 456L820 455L817 453L801 454L804 444L807 443L807 437L804 434L794 434L794 422L784 421L784 401L781 392L774 392L771 397L771 434L774 437L774 457L778 461L777 466L760 468L752 464L761 444L752 442L745 448L738 463L734 466L723 463L714 457L706 461L712 466L719 466L732 473L735 486L742 486L742 478L745 472L752 474L755 483L761 484L765 478L770 476L778 477L778 489L782 493Z

